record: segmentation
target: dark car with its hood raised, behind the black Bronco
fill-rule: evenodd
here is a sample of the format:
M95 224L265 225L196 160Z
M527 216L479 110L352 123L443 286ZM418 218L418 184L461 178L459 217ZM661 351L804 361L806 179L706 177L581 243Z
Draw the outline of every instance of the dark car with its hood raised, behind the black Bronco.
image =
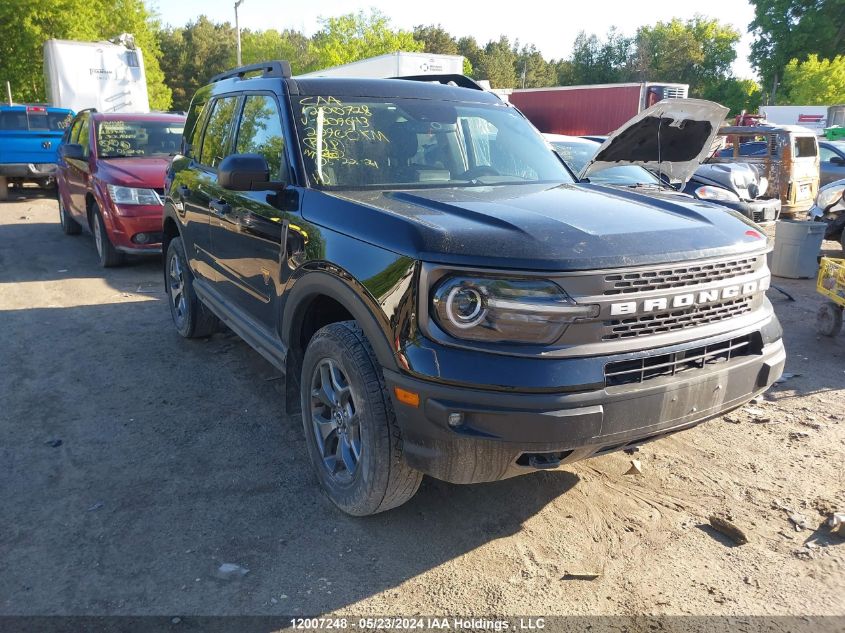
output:
M707 121L712 130L718 128L727 110L709 101L666 100L643 111L608 137L544 136L582 180L664 194L680 191L739 211L757 223L774 222L780 214L780 201L763 197L767 182L754 167L698 162L710 155L715 134L704 137L696 126L684 124L671 138L662 135L661 143L666 145L657 147L659 136L657 130L650 131L651 122L655 115L665 116L667 112L686 121ZM670 155L676 150L669 143L685 153Z

